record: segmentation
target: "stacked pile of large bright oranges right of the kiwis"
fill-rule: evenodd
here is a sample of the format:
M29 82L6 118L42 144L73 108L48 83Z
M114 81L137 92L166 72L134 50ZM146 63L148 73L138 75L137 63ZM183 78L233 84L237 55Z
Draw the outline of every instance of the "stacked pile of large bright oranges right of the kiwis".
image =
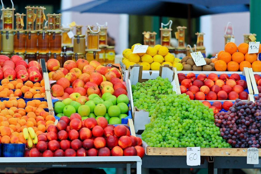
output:
M261 53L261 44L259 44ZM248 44L240 43L237 47L235 43L228 42L224 51L219 51L217 58L212 59L216 71L243 71L244 67L260 71L261 61L257 60L258 53L248 54Z

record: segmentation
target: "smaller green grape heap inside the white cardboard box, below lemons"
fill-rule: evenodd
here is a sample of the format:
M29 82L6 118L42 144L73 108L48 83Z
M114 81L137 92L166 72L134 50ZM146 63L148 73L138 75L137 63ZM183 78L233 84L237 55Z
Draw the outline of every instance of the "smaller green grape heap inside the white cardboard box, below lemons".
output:
M172 93L172 87L167 78L161 77L131 85L133 104L138 109L143 109L151 115L159 99Z

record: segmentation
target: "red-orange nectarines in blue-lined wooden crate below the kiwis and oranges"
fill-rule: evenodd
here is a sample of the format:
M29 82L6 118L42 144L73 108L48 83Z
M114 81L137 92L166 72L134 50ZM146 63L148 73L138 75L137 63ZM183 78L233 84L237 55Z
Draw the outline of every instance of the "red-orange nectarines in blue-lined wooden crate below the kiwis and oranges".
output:
M210 73L208 76L194 73L178 74L180 91L189 95L191 100L247 100L247 82L242 80L236 73L216 75Z

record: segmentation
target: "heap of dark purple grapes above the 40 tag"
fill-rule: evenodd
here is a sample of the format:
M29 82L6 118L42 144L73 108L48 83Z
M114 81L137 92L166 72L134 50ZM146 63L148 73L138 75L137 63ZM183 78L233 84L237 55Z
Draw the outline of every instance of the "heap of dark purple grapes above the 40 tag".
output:
M235 148L260 148L261 145L261 93L255 102L236 99L229 111L215 116L220 136Z

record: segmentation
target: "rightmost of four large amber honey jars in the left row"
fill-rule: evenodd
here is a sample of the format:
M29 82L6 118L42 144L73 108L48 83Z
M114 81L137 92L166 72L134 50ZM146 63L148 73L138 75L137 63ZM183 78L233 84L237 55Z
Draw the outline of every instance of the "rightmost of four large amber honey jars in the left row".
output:
M60 31L52 32L50 35L50 52L60 53L62 51L62 35Z

